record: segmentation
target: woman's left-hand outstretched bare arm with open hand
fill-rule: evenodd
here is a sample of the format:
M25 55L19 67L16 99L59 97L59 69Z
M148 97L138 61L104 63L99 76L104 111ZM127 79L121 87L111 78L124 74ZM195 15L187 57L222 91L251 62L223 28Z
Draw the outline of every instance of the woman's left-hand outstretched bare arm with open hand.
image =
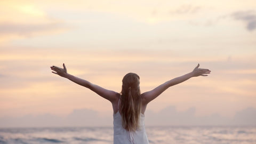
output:
M113 102L116 99L117 92L110 91L107 89L104 89L103 87L100 87L98 85L92 84L89 81L86 81L85 79L70 75L67 73L67 68L65 64L63 63L63 68L59 68L56 66L52 66L51 69L53 70L53 74L57 74L59 76L68 78L70 81L82 85L84 87L87 87L88 89L92 90L93 92L99 94L101 97L109 100L110 102Z

